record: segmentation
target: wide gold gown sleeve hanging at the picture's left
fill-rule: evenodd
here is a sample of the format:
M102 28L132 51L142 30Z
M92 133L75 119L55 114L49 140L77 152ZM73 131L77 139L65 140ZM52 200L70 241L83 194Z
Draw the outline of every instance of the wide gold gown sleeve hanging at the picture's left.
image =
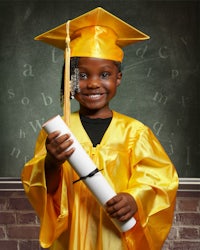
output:
M48 248L67 229L68 226L68 199L67 175L61 168L60 185L55 194L47 193L44 161L46 157L46 133L41 130L35 147L34 157L25 164L21 180L28 199L40 219L40 244ZM62 184L61 184L62 183ZM59 204L62 203L62 207Z

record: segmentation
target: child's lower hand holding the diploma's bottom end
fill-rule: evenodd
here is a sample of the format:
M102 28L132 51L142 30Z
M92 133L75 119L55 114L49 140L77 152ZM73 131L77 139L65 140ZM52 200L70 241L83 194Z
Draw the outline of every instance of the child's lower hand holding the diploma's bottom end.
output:
M122 222L132 218L136 211L137 204L128 193L119 193L106 203L108 215Z

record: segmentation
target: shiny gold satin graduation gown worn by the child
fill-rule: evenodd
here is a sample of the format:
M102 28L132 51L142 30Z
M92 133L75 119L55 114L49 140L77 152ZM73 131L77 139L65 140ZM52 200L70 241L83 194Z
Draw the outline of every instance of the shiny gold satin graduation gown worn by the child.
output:
M62 166L62 182L47 194L45 139L41 131L35 155L22 171L25 192L37 212L40 243L51 250L160 250L171 228L178 176L151 130L113 111L113 119L95 148L79 114L70 117L71 131L116 192L137 202L136 226L120 233L71 166ZM81 162L80 162L81 164Z

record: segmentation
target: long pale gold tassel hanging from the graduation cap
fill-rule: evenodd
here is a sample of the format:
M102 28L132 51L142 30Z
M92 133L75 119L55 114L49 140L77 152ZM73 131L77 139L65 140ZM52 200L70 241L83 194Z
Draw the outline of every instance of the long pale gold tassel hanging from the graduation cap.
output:
M66 23L65 76L64 76L64 121L70 125L70 20Z

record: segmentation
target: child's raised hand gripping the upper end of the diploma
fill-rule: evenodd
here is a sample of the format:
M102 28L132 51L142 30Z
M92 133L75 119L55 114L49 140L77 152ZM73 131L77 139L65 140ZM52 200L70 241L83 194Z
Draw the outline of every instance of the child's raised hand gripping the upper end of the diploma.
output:
M51 165L60 165L74 152L74 148L67 150L73 143L69 134L59 136L60 132L50 133L46 139L46 150ZM59 137L58 137L59 136Z

